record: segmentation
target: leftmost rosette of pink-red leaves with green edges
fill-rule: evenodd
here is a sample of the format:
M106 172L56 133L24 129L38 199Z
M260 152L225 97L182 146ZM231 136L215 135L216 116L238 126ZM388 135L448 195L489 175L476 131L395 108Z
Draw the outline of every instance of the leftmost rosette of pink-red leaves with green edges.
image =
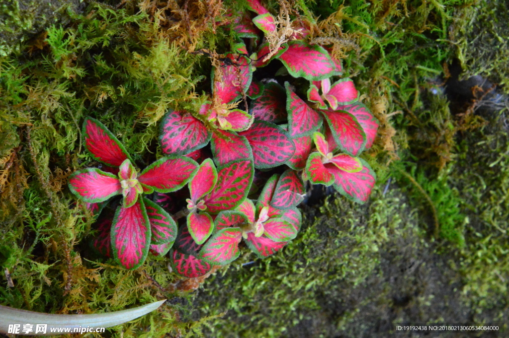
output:
M108 171L118 171L118 174L97 168L78 170L69 177L71 192L87 203L123 196L114 217L100 219L102 236L96 243L102 246L103 252L110 250L128 269L143 264L151 244L156 251L169 250L177 234L175 221L144 194L182 188L196 173L198 164L187 157L163 157L139 172L124 146L98 120L87 118L82 135L91 156L108 166Z

